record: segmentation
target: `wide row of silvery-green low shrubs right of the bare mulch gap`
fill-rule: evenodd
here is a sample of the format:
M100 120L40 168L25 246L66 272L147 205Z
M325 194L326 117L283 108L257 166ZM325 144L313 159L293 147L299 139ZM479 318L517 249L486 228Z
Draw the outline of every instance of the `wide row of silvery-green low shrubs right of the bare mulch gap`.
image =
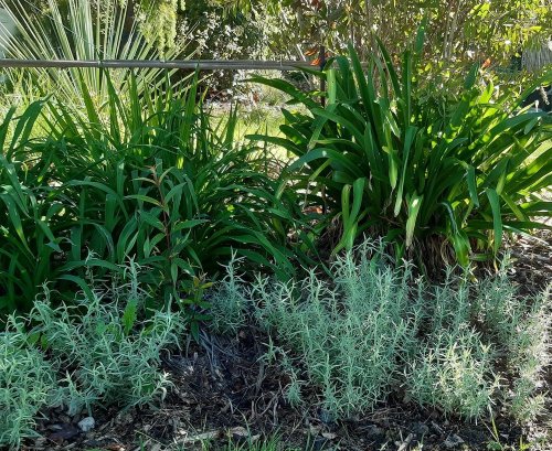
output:
M474 282L453 270L431 286L389 261L364 244L338 257L329 277L247 284L231 272L212 296L215 324L235 332L255 318L269 334L266 358L289 374L288 401L300 405L301 387L314 385L327 419L404 391L449 416L534 418L544 400L549 292L523 298L503 275Z

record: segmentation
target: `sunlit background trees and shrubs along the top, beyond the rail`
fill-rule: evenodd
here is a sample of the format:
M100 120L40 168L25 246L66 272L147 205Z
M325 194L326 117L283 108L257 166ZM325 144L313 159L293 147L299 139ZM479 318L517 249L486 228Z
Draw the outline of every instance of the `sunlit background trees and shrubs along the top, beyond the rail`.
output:
M74 0L2 0L3 4L53 31L49 20L71 9ZM76 2L86 4L85 2ZM341 54L352 42L361 58L376 50L376 32L392 53L427 21L426 68L442 80L455 71L490 58L493 67L512 68L521 53L545 46L552 20L550 0L469 0L417 2L373 0L117 0L124 15L134 18L148 45L160 52L198 51L203 57L256 58L262 55L302 58L309 49L326 45ZM108 10L113 0L95 4ZM25 8L21 9L23 4ZM126 12L128 11L128 13ZM92 18L96 15L93 14ZM116 14L105 14L114 18ZM393 18L390 20L389 18ZM129 30L130 21L125 24ZM73 30L71 22L68 29ZM70 41L71 42L71 41ZM88 42L94 42L91 40Z

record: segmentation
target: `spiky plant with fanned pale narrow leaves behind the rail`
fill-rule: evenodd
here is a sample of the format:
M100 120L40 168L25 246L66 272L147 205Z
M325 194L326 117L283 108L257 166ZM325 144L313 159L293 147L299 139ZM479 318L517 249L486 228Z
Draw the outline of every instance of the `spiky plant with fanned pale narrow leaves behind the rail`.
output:
M148 0L144 0L147 2ZM145 28L138 20L129 20L132 4L126 0L0 0L15 35L2 33L0 45L7 57L15 60L161 60L174 58L179 49L174 45L161 49L152 36L145 36ZM160 10L141 9L144 20L155 18L163 21ZM3 25L2 25L3 26ZM161 37L162 28L158 28ZM147 33L146 33L147 34ZM164 37L164 36L163 36ZM174 39L172 39L174 41ZM174 42L171 42L173 44ZM181 43L181 42L179 42ZM181 58L185 57L180 55ZM6 76L23 106L54 94L71 109L72 115L86 116L86 92L94 93L92 101L99 107L109 101L109 84L116 86L117 96L127 99L128 80L138 79L138 86L147 87L162 80L162 69L148 68L134 73L128 69L109 72L110 80L103 71L93 67L10 68Z

